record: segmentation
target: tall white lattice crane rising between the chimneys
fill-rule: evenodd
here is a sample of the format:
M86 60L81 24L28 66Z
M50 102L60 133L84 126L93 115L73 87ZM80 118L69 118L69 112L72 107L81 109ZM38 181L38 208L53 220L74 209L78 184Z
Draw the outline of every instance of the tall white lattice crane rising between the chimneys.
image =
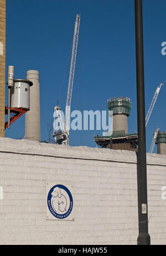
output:
M71 105L72 87L73 87L73 82L74 82L77 44L78 44L78 39L79 39L79 28L80 28L80 14L76 14L74 38L73 38L73 43L72 43L68 94L67 94L66 108L65 108L65 117L64 118L62 117L60 107L55 106L55 108L54 108L53 137L55 138L56 144L63 143L64 145L69 145L70 105ZM56 118L56 120L55 120L55 118Z

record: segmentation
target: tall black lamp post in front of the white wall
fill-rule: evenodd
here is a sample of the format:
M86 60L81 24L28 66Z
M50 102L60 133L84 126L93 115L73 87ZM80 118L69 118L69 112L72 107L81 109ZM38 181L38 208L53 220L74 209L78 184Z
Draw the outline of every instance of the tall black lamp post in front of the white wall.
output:
M138 222L139 245L151 244L148 234L147 204L147 163L146 163L146 126L144 103L144 63L143 63L143 21L142 0L135 0L136 26L136 73L137 73L137 126L138 126Z

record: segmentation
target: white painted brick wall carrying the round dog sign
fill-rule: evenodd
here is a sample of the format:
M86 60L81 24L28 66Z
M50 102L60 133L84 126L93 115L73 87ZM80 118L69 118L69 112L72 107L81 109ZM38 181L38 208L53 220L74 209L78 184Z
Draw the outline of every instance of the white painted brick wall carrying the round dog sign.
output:
M137 244L135 152L0 138L0 244ZM166 157L147 154L151 244L166 244ZM46 183L73 184L74 221L46 220Z

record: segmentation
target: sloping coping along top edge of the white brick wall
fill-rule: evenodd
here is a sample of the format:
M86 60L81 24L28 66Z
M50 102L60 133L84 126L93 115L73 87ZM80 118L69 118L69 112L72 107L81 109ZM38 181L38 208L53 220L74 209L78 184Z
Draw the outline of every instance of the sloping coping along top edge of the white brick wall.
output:
M90 148L83 146L70 147L65 145L33 142L25 139L0 138L0 152L137 163L137 155L136 152L133 151ZM166 166L166 155L147 153L147 164L161 164Z

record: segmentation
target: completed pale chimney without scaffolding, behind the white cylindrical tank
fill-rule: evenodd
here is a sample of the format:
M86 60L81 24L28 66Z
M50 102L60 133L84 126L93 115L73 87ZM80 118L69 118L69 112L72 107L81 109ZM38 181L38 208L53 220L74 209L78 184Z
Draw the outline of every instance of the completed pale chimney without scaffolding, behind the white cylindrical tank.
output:
M27 71L27 80L33 82L30 87L30 111L25 114L25 139L40 141L40 91L39 71Z

